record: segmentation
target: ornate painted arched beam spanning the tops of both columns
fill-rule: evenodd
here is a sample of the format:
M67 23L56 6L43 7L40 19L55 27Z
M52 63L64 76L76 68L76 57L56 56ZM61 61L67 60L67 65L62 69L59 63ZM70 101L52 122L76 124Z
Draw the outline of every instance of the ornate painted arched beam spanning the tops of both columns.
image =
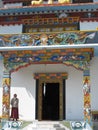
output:
M92 48L5 51L4 66L13 72L31 64L66 64L84 70L93 57Z

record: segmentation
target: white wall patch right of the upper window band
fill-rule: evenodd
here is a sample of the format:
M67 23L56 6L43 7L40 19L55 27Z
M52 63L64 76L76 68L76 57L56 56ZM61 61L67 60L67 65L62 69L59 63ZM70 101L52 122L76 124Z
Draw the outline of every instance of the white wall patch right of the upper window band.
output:
M96 30L98 22L80 22L80 30Z

